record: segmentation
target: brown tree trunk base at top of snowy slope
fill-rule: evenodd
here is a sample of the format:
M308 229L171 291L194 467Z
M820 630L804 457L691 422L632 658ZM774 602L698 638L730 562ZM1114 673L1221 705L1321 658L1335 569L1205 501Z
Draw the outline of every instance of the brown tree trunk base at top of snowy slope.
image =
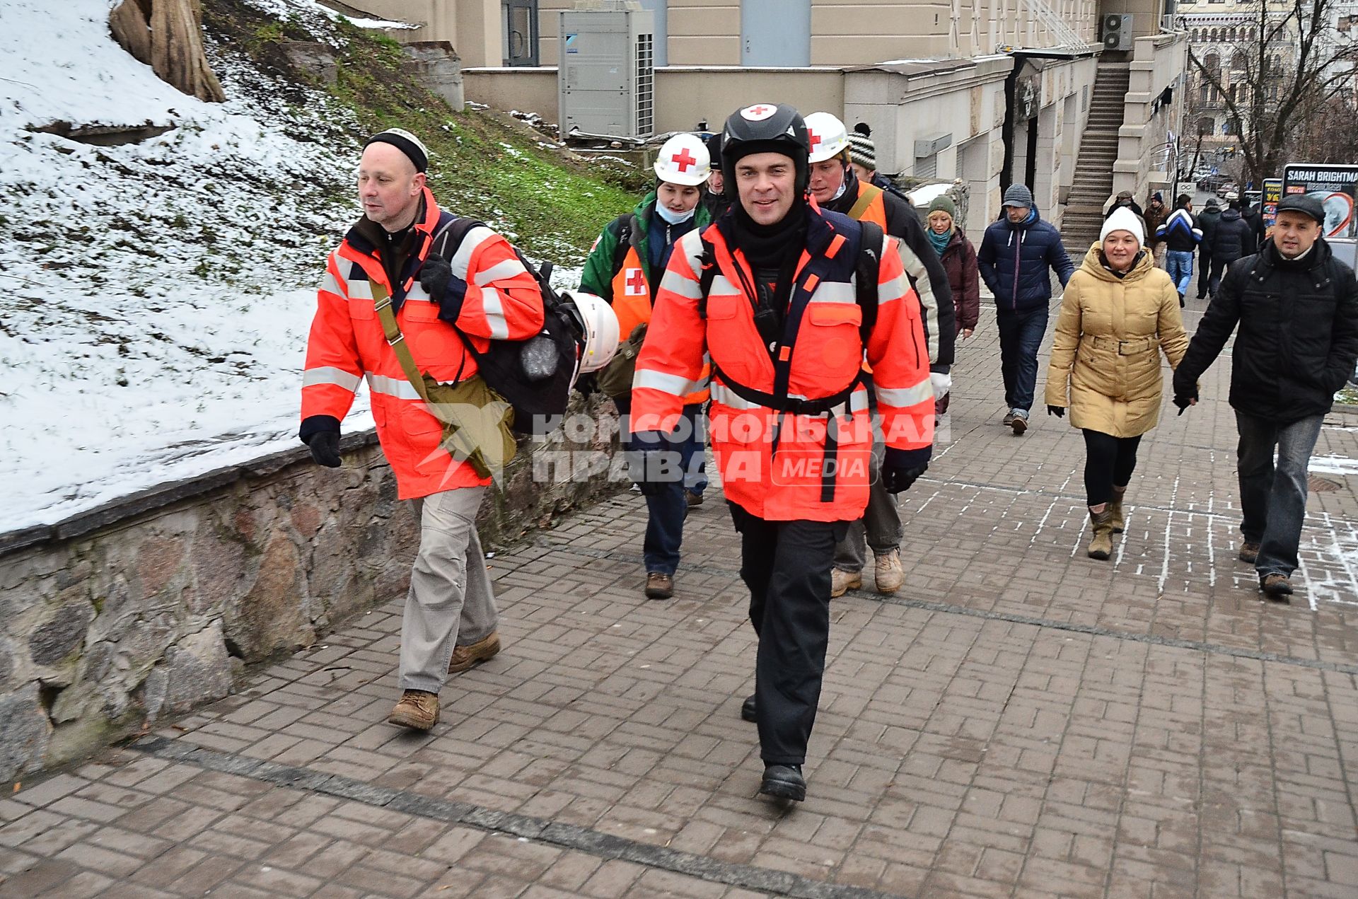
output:
M209 103L227 98L202 49L200 0L124 0L110 14L109 29L160 80Z

